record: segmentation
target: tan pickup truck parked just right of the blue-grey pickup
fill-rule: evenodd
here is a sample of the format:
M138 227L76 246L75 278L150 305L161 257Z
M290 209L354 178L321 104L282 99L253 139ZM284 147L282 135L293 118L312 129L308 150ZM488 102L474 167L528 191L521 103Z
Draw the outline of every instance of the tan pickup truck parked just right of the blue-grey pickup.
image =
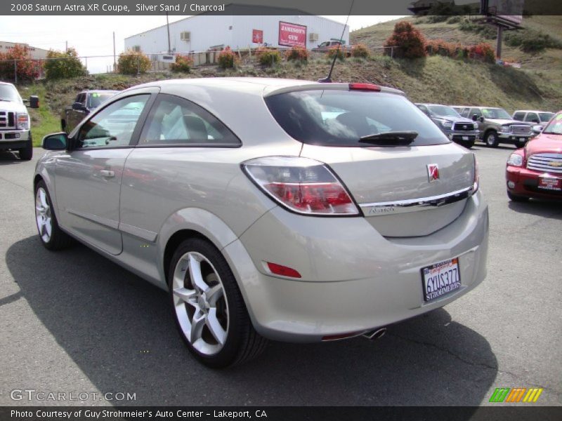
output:
M532 123L511 119L503 108L465 107L461 115L481 122L480 138L488 147L497 147L500 143L523 147L535 135Z

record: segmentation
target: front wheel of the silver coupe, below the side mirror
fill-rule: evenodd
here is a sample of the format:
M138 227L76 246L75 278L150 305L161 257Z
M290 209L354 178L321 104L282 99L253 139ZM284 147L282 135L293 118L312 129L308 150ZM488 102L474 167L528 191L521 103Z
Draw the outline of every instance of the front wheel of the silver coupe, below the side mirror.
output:
M48 250L63 250L72 244L72 237L58 226L53 202L43 180L35 186L35 222L39 239Z

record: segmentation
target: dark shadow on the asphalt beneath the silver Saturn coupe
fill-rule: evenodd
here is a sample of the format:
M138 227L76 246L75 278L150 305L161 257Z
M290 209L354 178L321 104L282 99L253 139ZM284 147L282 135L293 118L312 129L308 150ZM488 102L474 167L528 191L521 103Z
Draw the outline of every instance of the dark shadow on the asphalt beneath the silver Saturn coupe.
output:
M166 293L89 248L53 253L29 237L8 248L6 263L92 384L136 394L115 405L477 406L497 375L487 340L445 309L390 326L375 342L272 342L254 361L211 370L183 345Z

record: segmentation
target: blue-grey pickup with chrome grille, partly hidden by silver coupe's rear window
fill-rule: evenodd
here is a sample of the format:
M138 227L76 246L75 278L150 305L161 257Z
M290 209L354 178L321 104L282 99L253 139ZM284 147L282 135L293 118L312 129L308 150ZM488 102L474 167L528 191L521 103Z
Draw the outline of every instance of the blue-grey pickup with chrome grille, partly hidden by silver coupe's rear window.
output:
M447 107L447 105L438 104L416 104L421 112L429 116L433 123L447 135L447 138L453 142L457 142L466 148L471 148L476 142L478 131L478 122L465 119L460 116L455 109Z

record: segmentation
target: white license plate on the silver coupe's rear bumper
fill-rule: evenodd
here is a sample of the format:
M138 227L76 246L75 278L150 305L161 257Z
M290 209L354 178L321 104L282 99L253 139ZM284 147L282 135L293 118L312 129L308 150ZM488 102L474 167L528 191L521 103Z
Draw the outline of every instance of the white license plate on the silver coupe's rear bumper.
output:
M445 260L421 269L424 282L424 301L437 298L461 287L459 258Z

